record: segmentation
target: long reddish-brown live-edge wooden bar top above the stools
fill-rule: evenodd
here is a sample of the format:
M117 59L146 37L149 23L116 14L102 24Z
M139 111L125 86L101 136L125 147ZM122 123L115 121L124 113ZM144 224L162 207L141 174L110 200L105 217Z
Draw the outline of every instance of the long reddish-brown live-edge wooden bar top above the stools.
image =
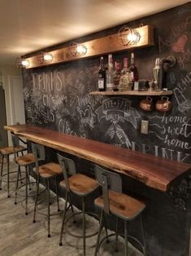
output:
M34 125L4 126L4 128L30 141L71 153L131 176L163 192L167 192L172 181L191 170L190 164L154 157L127 148L116 148L110 144L65 135L59 131Z

